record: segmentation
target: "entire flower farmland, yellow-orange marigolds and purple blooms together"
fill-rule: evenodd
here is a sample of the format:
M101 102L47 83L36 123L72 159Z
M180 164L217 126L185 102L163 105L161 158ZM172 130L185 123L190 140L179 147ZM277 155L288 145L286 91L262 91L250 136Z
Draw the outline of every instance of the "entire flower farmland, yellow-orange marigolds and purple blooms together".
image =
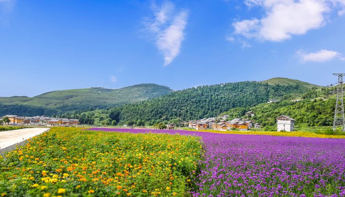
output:
M53 128L10 152L0 161L0 194L345 196L344 139L90 130Z

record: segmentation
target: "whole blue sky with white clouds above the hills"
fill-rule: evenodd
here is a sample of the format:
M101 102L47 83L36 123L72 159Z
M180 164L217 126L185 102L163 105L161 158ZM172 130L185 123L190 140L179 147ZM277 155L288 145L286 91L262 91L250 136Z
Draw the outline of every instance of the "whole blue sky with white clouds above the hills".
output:
M0 0L0 97L345 72L345 0Z

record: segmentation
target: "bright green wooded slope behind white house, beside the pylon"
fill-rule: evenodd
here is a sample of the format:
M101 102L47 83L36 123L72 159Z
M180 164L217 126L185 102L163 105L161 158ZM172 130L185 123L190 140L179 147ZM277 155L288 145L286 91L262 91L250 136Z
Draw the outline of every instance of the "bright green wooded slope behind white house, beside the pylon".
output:
M333 88L310 90L300 96L300 99L283 99L279 102L261 103L254 107L236 107L224 113L229 119L245 117L246 111L253 111L252 120L263 126L276 124L276 117L284 114L296 120L299 126L331 126L336 98L329 92Z

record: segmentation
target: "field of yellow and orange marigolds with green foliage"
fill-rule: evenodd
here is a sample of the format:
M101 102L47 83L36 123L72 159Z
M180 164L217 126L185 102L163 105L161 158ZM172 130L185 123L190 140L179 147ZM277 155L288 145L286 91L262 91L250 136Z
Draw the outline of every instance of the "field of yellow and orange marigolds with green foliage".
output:
M0 195L188 196L199 137L52 128L0 158Z

